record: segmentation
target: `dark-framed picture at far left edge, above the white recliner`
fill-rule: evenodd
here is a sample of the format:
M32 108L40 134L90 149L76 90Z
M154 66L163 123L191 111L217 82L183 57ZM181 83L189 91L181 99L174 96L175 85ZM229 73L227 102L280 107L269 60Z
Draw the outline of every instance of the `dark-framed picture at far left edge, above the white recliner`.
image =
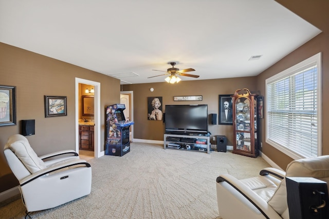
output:
M0 126L16 125L16 87L0 85Z

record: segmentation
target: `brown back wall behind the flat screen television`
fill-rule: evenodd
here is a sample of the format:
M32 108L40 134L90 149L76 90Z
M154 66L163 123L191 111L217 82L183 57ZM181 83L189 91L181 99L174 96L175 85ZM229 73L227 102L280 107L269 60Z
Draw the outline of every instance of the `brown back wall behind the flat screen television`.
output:
M148 97L162 96L162 109L165 112L165 105L183 105L183 104L207 104L208 114L217 114L218 124L218 102L219 95L234 94L237 89L248 88L251 92L255 90L255 77L237 77L225 79L211 79L198 81L184 81L182 78L178 84L149 83L124 85L124 91L134 91L134 138L163 141L165 124L162 121L148 120ZM165 81L165 77L163 77ZM151 92L150 88L154 91ZM202 101L174 101L174 96L202 95ZM228 138L228 144L233 145L232 125L211 125L208 123L211 136L225 135Z

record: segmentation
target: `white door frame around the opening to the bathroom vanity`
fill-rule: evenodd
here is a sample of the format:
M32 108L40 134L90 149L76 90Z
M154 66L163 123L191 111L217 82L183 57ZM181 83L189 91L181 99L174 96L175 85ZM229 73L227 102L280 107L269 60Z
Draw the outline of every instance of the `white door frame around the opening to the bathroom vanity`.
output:
M95 87L95 146L94 156L104 156L104 151L101 151L101 83L89 81L87 79L76 77L76 152L79 153L79 84L87 84Z

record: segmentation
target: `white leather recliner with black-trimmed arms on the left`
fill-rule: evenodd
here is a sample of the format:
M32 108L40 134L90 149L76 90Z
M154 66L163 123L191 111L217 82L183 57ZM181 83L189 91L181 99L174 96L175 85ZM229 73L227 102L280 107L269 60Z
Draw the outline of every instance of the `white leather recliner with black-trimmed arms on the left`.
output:
M9 167L20 182L27 214L88 195L92 168L73 150L38 157L26 137L12 135L4 148Z

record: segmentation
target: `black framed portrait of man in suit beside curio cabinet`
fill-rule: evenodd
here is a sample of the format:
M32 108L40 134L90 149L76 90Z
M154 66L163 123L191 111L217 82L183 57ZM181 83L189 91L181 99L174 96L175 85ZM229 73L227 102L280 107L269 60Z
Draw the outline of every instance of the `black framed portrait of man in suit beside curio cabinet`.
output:
M232 95L232 94L231 94ZM232 109L232 97L231 95L220 95L219 101L219 114L218 124L220 125L232 125L233 124L233 109Z

